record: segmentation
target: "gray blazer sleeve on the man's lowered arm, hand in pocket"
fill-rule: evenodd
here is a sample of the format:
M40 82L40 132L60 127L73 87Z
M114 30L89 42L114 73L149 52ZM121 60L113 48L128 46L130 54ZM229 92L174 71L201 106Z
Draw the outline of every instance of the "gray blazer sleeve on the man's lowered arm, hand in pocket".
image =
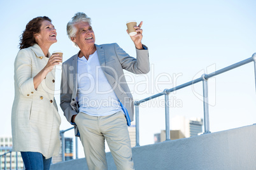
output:
M71 107L71 98L73 89L69 87L68 84L68 76L67 76L67 69L68 66L64 63L62 64L62 75L61 75L61 82L60 82L60 108L64 112L64 116L71 122L72 116L78 114L73 108Z

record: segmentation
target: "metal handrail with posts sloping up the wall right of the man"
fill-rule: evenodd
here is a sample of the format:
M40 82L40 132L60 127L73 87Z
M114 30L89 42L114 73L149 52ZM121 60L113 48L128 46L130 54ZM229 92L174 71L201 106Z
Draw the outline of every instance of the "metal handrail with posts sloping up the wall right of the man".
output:
M238 63L234 63L233 65L229 65L228 67L225 67L224 69L217 70L216 72L212 72L211 74L203 74L200 78L195 79L190 82L186 82L184 84L181 84L180 86L176 86L171 89L164 89L161 93L158 93L157 95L150 96L148 98L139 100L139 101L134 101L135 105L135 113L136 113L136 147L139 146L139 104L152 100L153 98L157 98L159 96L164 95L165 98L165 119L166 119L166 141L171 140L170 137L170 126L169 126L169 93L173 91L177 91L178 89L185 88L187 86L191 86L192 84L196 84L197 82L203 81L203 103L204 103L204 134L206 133L211 133L210 132L210 125L209 125L209 105L208 105L208 79L211 77L214 77L218 74L222 74L224 72L227 72L232 69L236 69L237 67L240 67L242 65L245 65L247 63L254 62L254 73L255 73L255 88L256 88L256 53L252 55L252 57L247 58L246 60L243 60Z

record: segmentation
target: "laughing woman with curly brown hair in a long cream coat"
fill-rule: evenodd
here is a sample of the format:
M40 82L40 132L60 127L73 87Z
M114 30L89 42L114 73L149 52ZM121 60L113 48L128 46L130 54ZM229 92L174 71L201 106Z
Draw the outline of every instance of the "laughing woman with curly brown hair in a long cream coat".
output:
M25 169L50 169L52 156L60 149L53 67L61 58L48 52L57 42L51 22L47 16L38 16L27 23L14 64L13 151L21 152Z

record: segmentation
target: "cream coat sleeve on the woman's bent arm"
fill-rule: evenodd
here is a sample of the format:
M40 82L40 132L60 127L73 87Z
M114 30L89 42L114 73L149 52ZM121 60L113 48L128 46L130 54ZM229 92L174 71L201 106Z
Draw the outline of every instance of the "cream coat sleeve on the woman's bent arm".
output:
M14 79L18 90L23 96L34 94L34 81L32 77L32 54L25 49L18 51L14 64Z

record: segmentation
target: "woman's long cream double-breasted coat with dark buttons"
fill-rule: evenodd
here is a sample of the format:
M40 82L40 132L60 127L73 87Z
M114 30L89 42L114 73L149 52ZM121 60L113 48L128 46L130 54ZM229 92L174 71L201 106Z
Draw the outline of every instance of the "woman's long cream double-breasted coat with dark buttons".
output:
M46 75L38 89L34 89L33 77L47 62L48 58L38 44L18 52L11 111L13 151L39 152L46 159L58 155L60 150L60 116L54 99L55 70Z

